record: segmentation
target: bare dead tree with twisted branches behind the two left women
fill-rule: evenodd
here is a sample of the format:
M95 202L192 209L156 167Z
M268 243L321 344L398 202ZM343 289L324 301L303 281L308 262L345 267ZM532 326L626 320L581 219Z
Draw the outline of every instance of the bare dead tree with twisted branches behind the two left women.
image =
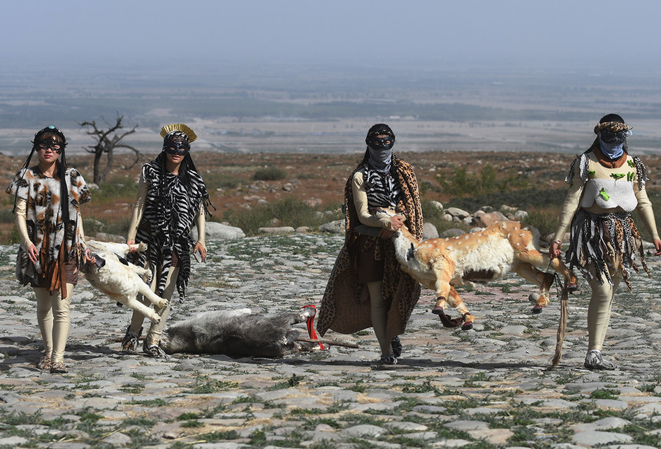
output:
M124 129L124 120L123 115L119 115L117 112L117 117L115 118L115 124L110 124L106 122L106 119L103 119L103 123L106 124L106 127L99 127L96 125L96 120L92 122L82 122L79 123L81 128L85 128L85 133L91 135L94 140L96 140L96 145L89 145L85 147L85 151L88 153L94 154L94 183L99 184L106 179L108 173L112 169L112 165L115 159L115 149L117 148L126 148L130 149L136 154L136 160L133 161L133 164L129 168L133 168L133 165L136 165L140 158L143 157L143 154L138 151L138 149L131 147L131 145L126 145L122 140L129 134L136 132L138 124L133 126L129 131L119 132L119 130ZM106 167L101 169L101 158L103 154L106 154Z

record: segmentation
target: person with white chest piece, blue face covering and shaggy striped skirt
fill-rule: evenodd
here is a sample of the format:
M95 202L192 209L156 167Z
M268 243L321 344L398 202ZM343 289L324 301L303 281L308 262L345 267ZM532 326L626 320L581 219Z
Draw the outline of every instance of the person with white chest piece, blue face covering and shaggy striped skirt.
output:
M565 181L569 193L562 205L549 256L560 256L560 244L571 223L569 250L565 257L570 268L577 266L586 277L592 297L588 306L588 369L616 369L602 357L611 305L620 281L631 291L631 270L638 271L637 256L646 273L642 239L631 212L637 209L661 255L661 240L652 204L645 191L648 181L645 165L627 153L631 128L622 117L609 114L595 126L593 145L572 162Z

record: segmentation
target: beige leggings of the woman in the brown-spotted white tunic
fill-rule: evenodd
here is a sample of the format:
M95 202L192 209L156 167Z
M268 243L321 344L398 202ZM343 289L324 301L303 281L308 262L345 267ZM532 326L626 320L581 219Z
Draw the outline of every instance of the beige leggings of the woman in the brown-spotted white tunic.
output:
M59 290L33 288L37 299L37 321L43 339L43 355L50 355L53 362L64 362L66 338L71 327L71 294L73 284L66 284L66 298L61 299Z

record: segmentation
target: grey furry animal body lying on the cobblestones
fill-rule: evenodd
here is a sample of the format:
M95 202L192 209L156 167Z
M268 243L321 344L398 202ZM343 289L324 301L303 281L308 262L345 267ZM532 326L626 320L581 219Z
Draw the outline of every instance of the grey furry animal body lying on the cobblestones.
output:
M225 354L233 358L277 358L311 351L317 344L296 341L298 329L316 311L251 314L249 309L210 311L170 325L161 335L161 348L168 354Z

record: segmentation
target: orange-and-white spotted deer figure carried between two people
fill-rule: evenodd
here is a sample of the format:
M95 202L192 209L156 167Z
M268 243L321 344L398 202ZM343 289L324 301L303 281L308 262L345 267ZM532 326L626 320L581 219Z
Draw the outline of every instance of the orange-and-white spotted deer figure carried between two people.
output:
M392 216L393 211L379 209L378 214ZM467 282L486 284L514 271L539 287L539 298L532 308L539 314L549 304L549 288L553 273L561 274L570 291L576 290L576 276L560 258L550 259L539 251L539 231L518 221L499 221L476 233L456 237L416 240L406 226L393 234L395 256L402 269L420 284L435 290L437 301L432 312L440 316L443 325L463 330L472 328L470 314L454 286ZM455 307L461 318L449 318L444 313L447 304Z

